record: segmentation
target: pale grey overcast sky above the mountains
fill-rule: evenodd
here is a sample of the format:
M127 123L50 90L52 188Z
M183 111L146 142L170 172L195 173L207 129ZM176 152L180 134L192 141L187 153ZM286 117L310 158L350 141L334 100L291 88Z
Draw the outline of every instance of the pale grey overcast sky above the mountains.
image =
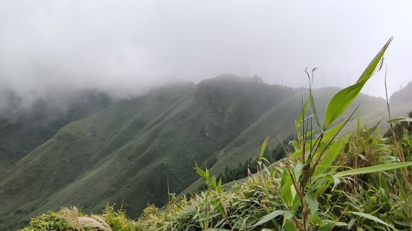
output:
M412 1L1 1L1 88L136 91L222 73L354 83L385 42L389 93L412 81ZM247 73L247 72L243 72ZM364 93L382 96L382 71Z

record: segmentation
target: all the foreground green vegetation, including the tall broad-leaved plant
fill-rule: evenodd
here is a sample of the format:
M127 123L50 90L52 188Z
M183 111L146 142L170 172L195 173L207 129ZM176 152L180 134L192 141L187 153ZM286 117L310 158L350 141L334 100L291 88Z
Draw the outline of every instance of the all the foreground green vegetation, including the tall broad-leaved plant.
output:
M190 199L171 194L166 206L148 206L137 221L110 206L102 215L90 217L64 208L32 219L23 230L411 230L412 119L390 120L398 125L386 135L378 126L363 128L359 116L356 132L339 137L354 112L333 126L380 69L390 42L354 85L332 97L324 121L311 90L316 69L312 75L306 72L309 99L295 121L294 150L269 165L266 139L255 158L257 173L247 182L224 191L222 180L196 165L207 184L205 191Z

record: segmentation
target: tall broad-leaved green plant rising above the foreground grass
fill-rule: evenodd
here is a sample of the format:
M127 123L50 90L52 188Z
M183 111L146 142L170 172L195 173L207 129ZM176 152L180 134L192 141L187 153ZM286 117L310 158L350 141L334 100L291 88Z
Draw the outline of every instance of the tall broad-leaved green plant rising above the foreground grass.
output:
M347 171L336 172L338 167L332 167L332 163L336 159L339 151L347 141L347 136L337 139L343 126L349 121L354 112L342 123L331 127L352 104L361 89L382 66L383 56L392 38L380 50L378 55L371 61L367 69L363 72L358 81L347 88L336 93L330 100L325 110L325 121L321 125L317 110L314 104L312 95L312 75L307 71L310 82L309 99L304 104L299 115L298 121L295 122L297 130L297 141L295 141L295 153L288 157L288 162L283 169L280 197L284 203L283 210L275 210L263 217L255 226L275 219L275 217L283 215L284 221L282 227L286 230L312 230L314 227L319 227L320 230L332 230L335 226L350 226L347 223L340 222L340 218L345 213L350 213L359 217L374 220L389 228L394 227L379 218L368 215L364 212L356 212L344 210L343 214L328 215L326 211L319 210L318 200L325 197L325 190L333 184L333 188L345 181L345 177L349 175L373 173L379 171L389 171L393 169L405 168L412 165L412 162L405 162L404 159L399 163L391 163L387 165L378 165L365 167L361 169L350 169ZM310 104L311 110L308 110ZM312 117L319 129L319 136L315 137L312 130ZM332 169L330 169L332 167ZM328 170L330 169L330 170ZM403 173L403 171L402 171ZM351 224L351 226L353 223Z

